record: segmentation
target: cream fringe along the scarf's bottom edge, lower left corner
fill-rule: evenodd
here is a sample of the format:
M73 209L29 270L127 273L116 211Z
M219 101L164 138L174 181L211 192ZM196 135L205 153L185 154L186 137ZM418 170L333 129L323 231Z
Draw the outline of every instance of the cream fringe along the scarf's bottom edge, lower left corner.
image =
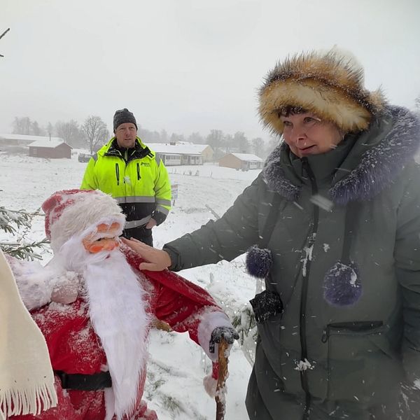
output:
M54 384L43 384L36 388L22 390L0 389L0 419L18 414L33 414L37 416L42 411L57 405L57 394Z

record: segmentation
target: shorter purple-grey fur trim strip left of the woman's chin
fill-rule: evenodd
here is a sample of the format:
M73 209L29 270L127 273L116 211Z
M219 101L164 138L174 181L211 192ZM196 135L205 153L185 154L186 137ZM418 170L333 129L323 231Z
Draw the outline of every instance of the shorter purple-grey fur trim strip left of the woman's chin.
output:
M283 145L277 146L269 155L265 162L265 167L262 169L264 179L267 186L279 193L281 197L288 201L296 201L300 194L300 187L295 186L285 176L284 170L281 167L281 153L284 153Z

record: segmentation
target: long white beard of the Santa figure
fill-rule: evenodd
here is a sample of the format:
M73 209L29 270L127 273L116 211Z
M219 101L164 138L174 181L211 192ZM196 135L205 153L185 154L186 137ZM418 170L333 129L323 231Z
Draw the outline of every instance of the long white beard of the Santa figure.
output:
M92 326L106 353L112 388L105 391L106 420L131 414L139 381L144 381L150 318L145 292L117 248L88 253L80 237L69 239L55 255L67 270L83 275Z

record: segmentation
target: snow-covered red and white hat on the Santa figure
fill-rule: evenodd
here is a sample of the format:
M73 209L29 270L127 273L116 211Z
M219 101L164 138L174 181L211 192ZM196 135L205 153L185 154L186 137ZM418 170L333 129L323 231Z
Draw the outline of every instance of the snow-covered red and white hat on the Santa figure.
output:
M42 204L45 212L45 235L56 252L74 235L92 225L117 222L123 230L125 216L118 202L100 190L62 190Z

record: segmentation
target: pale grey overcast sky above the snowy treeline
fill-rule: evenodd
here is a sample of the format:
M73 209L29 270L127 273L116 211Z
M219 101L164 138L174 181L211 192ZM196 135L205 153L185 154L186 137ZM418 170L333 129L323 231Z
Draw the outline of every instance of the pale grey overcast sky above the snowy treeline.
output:
M393 104L420 94L419 0L0 0L0 132L127 107L148 130L268 138L277 60L337 44Z

